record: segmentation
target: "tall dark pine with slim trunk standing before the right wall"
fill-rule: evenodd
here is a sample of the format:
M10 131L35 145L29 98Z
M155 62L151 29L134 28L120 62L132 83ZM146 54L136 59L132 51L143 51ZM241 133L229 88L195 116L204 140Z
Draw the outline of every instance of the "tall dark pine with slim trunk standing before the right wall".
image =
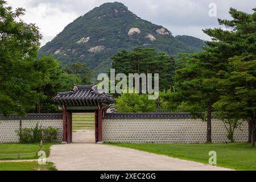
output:
M218 19L225 30L204 30L212 37L212 41L206 42L206 51L192 56L184 68L177 70L176 88L179 93L176 95L191 106L192 114L207 112L201 116L207 121L207 142L211 142L212 106L221 96L216 84L218 72L227 71L230 57L255 55L256 52L255 13L247 14L232 8L229 13L232 20Z

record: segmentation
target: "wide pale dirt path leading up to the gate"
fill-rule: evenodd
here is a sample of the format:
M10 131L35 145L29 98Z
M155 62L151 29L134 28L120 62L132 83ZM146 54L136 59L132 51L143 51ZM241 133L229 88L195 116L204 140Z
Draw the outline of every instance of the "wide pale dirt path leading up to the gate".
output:
M52 146L47 161L55 163L56 168L61 171L230 170L129 148L92 143Z

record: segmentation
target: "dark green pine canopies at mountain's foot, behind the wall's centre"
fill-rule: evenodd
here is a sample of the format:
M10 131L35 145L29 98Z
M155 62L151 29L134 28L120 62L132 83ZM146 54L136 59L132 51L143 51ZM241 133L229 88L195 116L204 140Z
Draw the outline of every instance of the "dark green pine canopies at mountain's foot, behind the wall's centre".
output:
M175 63L172 56L155 51L154 48L135 47L133 51L123 50L112 57L115 72L124 73L159 73L159 89L170 89L174 84ZM153 78L154 81L154 78Z

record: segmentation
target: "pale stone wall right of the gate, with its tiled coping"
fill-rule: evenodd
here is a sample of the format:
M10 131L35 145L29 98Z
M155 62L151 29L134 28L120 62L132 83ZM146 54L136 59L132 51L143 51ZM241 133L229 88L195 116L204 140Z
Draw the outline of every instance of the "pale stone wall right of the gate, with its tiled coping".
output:
M205 143L207 123L186 113L106 114L102 139L113 143ZM224 124L212 119L212 142L229 142ZM236 142L246 142L247 122L235 131Z

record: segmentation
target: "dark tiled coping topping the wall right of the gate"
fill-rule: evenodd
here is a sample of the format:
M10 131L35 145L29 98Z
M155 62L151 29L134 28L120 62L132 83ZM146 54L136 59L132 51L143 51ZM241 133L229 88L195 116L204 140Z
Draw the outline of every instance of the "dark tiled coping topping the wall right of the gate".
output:
M190 119L189 113L107 113L104 119Z

